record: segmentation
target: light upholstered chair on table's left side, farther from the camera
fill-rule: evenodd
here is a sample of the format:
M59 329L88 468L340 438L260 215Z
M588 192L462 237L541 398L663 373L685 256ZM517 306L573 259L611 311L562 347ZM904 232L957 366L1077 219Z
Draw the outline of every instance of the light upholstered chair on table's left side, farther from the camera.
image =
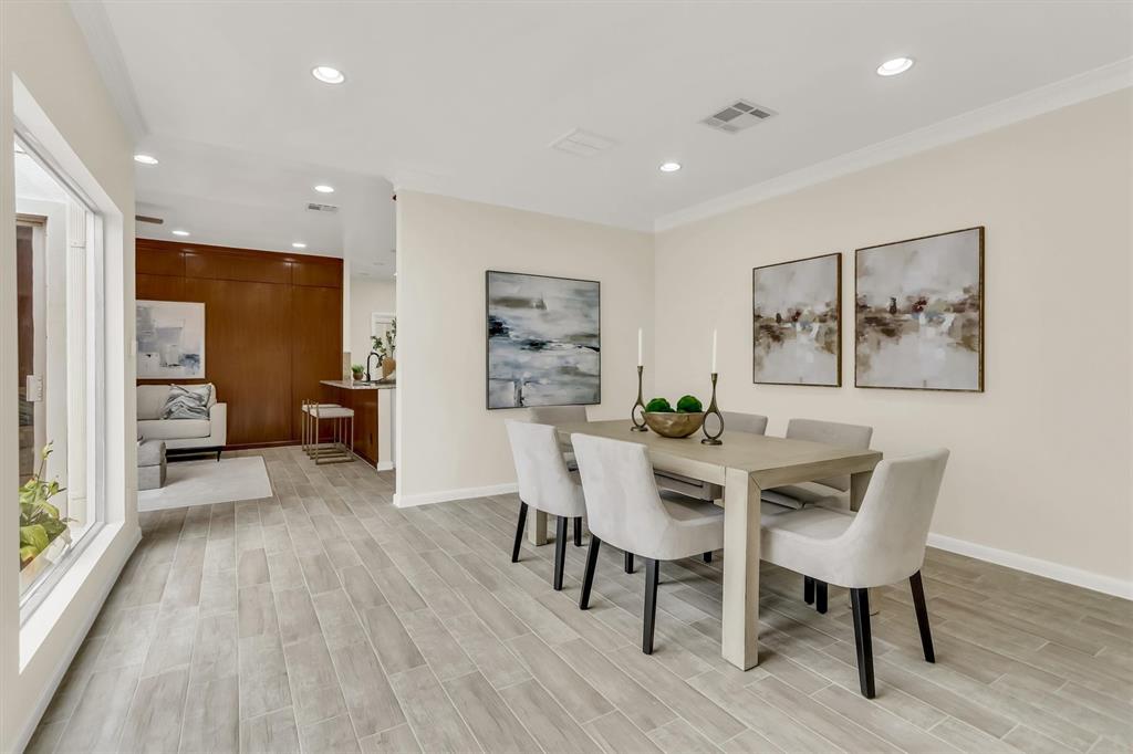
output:
M563 588L563 566L566 562L566 522L578 520L586 513L578 472L566 469L554 427L513 420L505 425L519 478L519 522L511 562L519 562L528 507L556 516L553 585L559 591Z

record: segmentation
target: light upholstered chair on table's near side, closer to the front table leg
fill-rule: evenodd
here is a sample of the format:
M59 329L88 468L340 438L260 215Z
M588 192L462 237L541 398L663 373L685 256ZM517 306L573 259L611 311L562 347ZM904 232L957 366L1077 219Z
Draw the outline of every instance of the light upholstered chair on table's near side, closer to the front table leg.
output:
M589 607L603 542L645 558L641 651L651 654L661 562L724 547L724 511L713 503L662 495L644 445L579 434L571 435L571 442L590 522L590 548L578 606L582 610Z

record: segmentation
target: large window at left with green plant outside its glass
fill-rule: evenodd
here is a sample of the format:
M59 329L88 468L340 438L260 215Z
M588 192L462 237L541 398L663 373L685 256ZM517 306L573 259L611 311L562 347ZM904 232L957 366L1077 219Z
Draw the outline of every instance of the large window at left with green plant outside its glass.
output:
M23 619L102 523L101 224L46 155L19 137L15 153Z

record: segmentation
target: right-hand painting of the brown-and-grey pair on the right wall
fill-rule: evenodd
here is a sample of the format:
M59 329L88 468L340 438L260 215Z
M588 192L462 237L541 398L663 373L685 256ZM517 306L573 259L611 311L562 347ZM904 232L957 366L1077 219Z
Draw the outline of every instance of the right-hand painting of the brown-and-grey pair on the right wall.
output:
M854 384L983 391L983 228L858 249Z

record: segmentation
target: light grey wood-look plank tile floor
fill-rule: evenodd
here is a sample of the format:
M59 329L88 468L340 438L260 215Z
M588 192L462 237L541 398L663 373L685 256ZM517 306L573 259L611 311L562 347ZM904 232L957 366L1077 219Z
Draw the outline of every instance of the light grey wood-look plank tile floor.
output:
M245 455L250 454L244 453ZM719 657L721 571L605 548L510 563L514 496L398 509L393 477L257 451L274 497L142 515L144 539L31 752L1111 752L1133 745L1133 603L930 550L937 663L875 590L878 695L830 610L765 566L760 665Z

